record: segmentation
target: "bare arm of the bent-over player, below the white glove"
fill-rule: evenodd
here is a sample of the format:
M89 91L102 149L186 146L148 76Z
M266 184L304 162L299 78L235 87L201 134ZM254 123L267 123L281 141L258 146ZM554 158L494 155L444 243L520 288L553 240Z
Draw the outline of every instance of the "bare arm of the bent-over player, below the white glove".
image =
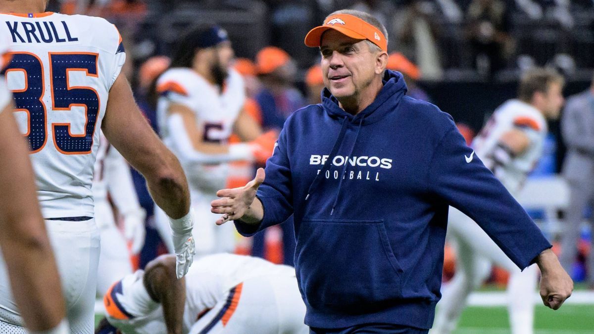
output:
M144 286L151 298L163 305L168 334L182 333L185 278L175 277L175 256L160 256L146 266Z

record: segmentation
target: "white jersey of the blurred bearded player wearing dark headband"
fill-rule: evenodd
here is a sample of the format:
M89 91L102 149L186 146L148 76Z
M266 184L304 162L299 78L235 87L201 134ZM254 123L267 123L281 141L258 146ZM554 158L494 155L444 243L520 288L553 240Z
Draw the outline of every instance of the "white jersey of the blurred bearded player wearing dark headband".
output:
M170 131L185 130L168 128L168 109L172 103L186 106L194 112L196 124L202 130L205 141L225 144L245 103L245 86L241 75L230 69L223 91L220 92L219 86L209 83L190 68L171 68L159 77L157 92L160 94L157 105L160 136L180 159L189 187L201 192L225 188L228 163L197 165L195 162L184 161L183 155L178 154L179 149L170 138Z

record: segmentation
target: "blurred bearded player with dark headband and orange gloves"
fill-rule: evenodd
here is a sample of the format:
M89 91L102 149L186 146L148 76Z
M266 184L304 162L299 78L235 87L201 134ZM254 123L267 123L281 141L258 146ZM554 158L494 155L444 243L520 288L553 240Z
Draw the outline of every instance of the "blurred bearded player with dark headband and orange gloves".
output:
M273 133L262 135L260 126L245 112L244 81L230 67L232 59L225 30L216 26L192 29L179 39L169 70L156 82L160 135L188 175L197 214L197 255L234 250L235 231L232 226L214 225L218 216L210 212L210 201L226 184L228 162L263 162L276 140ZM244 142L228 144L232 132ZM161 210L156 212L156 221L161 233L168 233Z

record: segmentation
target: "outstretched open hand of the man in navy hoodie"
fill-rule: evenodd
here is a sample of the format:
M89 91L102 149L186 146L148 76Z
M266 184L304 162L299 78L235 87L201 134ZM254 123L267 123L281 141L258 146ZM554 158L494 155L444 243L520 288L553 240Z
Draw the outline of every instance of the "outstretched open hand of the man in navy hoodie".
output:
M245 215L249 206L254 203L256 191L264 182L264 177L266 177L264 168L258 168L256 177L244 187L217 191L217 197L221 198L210 203L210 212L223 214L217 220L217 225L222 225L229 220L241 219Z

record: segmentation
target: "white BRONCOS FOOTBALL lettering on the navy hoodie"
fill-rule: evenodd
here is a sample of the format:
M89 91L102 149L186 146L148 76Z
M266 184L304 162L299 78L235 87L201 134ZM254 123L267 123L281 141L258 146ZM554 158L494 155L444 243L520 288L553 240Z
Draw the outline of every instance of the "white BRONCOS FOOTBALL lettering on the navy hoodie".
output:
M320 165L323 166L330 156L327 155L311 155L309 157L309 165ZM365 179L380 181L380 172L373 171L362 171L361 169L349 169L348 166L352 167L371 167L371 168L392 168L392 159L380 158L377 156L334 156L332 159L332 165L340 167L347 165L345 174L342 175L343 179ZM322 170L318 169L318 174ZM340 171L326 171L325 178L339 179Z

